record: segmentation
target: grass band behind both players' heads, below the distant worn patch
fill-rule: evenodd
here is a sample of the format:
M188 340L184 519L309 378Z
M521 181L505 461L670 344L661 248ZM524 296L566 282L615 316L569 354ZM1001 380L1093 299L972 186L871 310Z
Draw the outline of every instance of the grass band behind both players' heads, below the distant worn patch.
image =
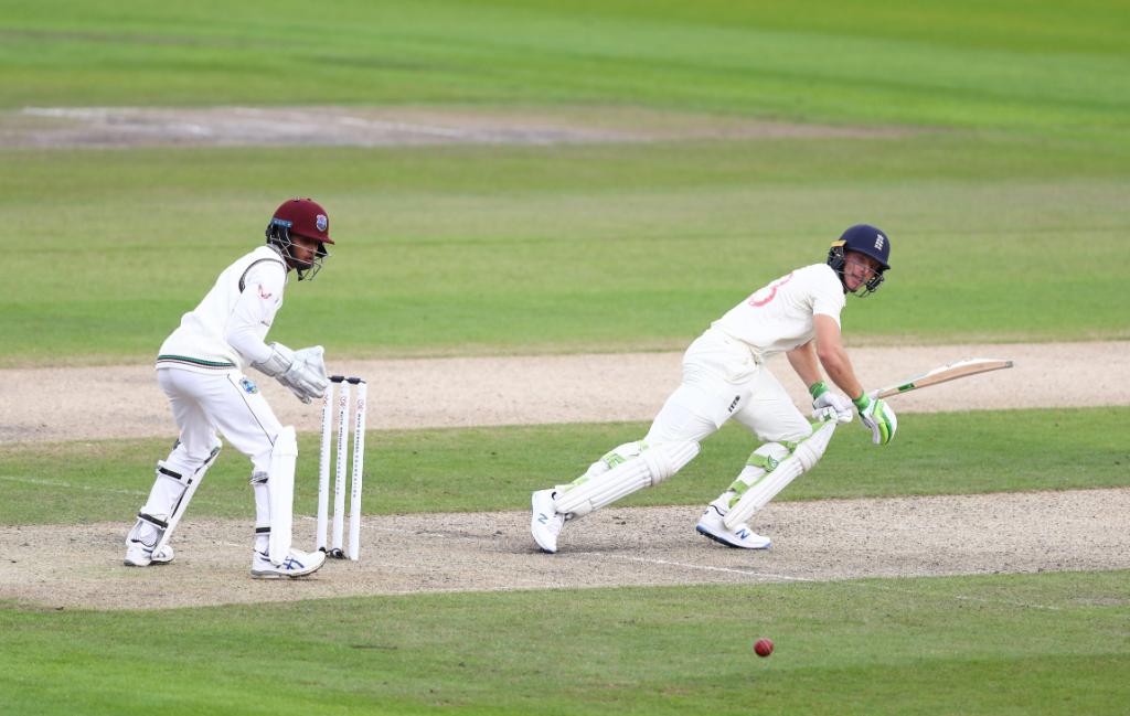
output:
M0 365L150 360L277 201L339 245L271 333L331 356L676 349L860 220L850 341L1130 337L1130 152L929 136L555 149L3 152ZM60 176L66 159L66 174ZM308 160L308 161L307 161ZM104 181L104 177L108 177Z

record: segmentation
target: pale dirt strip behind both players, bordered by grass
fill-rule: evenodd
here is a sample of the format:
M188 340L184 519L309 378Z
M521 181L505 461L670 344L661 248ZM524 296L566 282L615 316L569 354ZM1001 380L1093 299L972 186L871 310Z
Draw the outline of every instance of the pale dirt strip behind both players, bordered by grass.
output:
M1010 358L1008 370L892 399L898 412L1130 405L1130 342L855 348L864 385L879 386L962 358ZM370 382L372 429L651 420L680 379L680 352L333 360ZM784 359L771 367L793 401L805 386ZM286 425L316 433L321 409L268 378ZM0 443L175 437L151 365L0 370ZM51 390L44 390L50 386Z

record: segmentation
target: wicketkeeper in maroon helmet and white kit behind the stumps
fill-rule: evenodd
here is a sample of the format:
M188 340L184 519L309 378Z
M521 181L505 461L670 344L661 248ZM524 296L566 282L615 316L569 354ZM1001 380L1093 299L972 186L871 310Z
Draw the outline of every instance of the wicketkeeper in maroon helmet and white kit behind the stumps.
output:
M157 463L157 479L125 539L125 565L173 560L169 536L220 451L217 431L251 459L255 538L251 575L301 577L316 571L323 552L290 548L294 464L293 427L284 427L247 366L286 385L303 402L325 393L322 348L298 351L263 339L282 305L293 270L313 279L332 244L325 210L310 199L286 201L267 227L267 245L228 267L216 286L162 344L157 379L181 430L173 451Z

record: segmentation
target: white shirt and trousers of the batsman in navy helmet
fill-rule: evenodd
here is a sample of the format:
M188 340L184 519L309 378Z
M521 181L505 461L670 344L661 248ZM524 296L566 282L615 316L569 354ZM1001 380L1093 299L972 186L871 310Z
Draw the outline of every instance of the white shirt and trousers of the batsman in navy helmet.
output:
M697 338L683 357L683 384L668 398L644 440L701 442L730 418L763 442L811 434L766 361L816 334L814 316L840 323L844 292L831 267L797 269L755 291Z

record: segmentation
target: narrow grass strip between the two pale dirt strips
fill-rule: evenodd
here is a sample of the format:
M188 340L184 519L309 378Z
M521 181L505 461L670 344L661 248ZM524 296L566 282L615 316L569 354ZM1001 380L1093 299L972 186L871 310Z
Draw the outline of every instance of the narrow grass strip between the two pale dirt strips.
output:
M1130 487L1130 408L906 414L883 448L841 428L818 468L777 499L889 497ZM566 482L644 424L371 431L365 512L525 509L529 492ZM704 504L757 443L728 426L675 479L624 505ZM299 439L296 512L314 514L316 436ZM0 446L0 524L121 519L145 501L168 440ZM225 448L191 515L253 518L249 463Z

